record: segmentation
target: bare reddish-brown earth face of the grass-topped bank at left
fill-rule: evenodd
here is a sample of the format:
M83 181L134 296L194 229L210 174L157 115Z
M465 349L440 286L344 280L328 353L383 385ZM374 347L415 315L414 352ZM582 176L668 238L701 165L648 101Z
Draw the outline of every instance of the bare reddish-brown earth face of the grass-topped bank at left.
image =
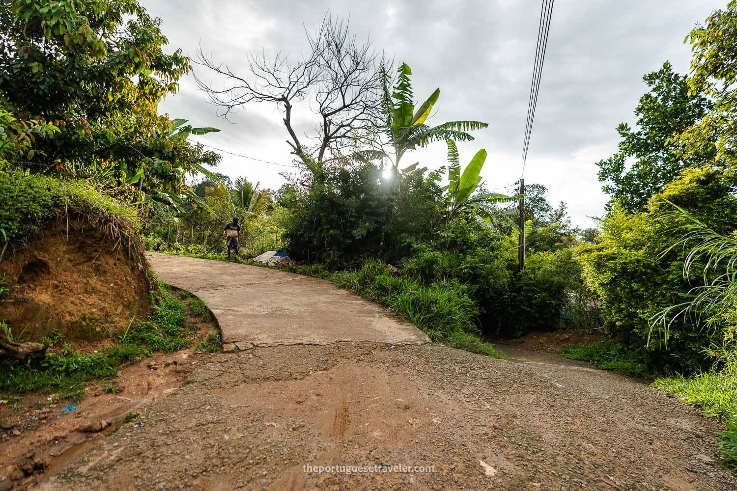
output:
M106 339L146 313L144 269L97 227L52 227L0 264L10 288L0 319L23 341L54 332L69 340Z

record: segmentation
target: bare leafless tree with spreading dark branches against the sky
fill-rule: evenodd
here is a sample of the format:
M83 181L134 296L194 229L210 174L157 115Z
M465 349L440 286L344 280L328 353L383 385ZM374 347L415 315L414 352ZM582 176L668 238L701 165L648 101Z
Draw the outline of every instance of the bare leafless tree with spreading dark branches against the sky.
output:
M270 102L284 114L292 153L308 167L340 158L347 149L368 143L380 127L383 56L371 40L357 40L348 21L325 15L314 34L307 33L307 56L299 59L281 52L247 54L248 74L235 74L227 65L206 56L200 46L198 64L209 68L223 88L197 77L210 102L228 117L236 107ZM293 127L295 103L307 100L315 114L314 133L300 138Z

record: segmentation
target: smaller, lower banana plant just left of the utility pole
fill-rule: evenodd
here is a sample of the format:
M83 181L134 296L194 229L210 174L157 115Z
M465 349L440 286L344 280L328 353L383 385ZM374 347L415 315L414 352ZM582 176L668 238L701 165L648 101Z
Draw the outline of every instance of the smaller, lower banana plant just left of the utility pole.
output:
M447 140L448 165L430 172L428 177L433 180L441 180L442 173L447 172L448 186L445 194L447 219L455 219L463 211L472 210L485 222L491 223L495 216L492 205L495 203L511 202L514 197L499 193L474 194L481 183L481 169L486 163L486 150L476 152L466 169L461 172L458 146L455 141Z

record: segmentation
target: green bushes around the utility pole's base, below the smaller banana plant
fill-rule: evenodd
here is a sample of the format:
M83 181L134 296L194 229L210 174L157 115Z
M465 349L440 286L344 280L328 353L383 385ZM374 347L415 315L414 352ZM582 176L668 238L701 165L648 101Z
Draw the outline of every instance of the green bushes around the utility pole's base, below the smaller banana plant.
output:
M587 290L570 248L531 252L519 272L515 241L478 220L456 219L440 227L432 241L416 244L402 273L426 285L439 280L464 285L478 305L478 325L486 336L595 327L598 315L584 311L590 308L584 303ZM572 294L584 300L573 304Z

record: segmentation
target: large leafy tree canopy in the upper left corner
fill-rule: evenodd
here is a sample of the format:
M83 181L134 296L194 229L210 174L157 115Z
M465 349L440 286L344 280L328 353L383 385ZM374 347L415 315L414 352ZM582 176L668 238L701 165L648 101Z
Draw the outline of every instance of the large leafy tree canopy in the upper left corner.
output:
M217 154L189 144L184 120L158 115L158 102L190 68L181 51L163 52L160 25L137 0L4 2L0 92L18 119L59 127L13 163L68 177L104 174L155 197L178 194L187 172L217 163Z

